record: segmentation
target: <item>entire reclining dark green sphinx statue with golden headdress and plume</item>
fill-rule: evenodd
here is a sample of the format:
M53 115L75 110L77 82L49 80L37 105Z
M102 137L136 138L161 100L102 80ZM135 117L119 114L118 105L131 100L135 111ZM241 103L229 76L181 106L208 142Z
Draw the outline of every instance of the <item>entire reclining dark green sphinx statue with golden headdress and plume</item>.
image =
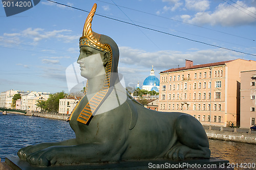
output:
M200 122L180 112L158 112L136 102L120 83L119 50L113 39L92 31L94 4L79 40L86 94L68 118L76 138L22 148L20 159L50 166L122 160L210 158Z

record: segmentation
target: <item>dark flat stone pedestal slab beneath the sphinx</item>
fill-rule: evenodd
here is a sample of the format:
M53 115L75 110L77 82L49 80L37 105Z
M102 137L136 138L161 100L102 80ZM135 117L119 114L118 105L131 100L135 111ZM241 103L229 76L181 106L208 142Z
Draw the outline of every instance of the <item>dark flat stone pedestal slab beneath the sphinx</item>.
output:
M32 166L25 160L18 157L6 158L5 163L14 170L72 170L72 169L229 169L227 160L210 159L190 159L184 161L172 161L167 159L158 160L130 160L118 163L85 163L73 165L54 165L48 167Z

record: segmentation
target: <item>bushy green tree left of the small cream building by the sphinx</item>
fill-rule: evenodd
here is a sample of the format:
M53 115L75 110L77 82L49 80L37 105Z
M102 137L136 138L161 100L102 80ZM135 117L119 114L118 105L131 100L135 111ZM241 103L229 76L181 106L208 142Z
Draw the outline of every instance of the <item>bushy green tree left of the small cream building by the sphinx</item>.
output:
M49 98L46 101L47 111L49 112L58 112L59 110L59 100L67 96L64 91L50 94Z

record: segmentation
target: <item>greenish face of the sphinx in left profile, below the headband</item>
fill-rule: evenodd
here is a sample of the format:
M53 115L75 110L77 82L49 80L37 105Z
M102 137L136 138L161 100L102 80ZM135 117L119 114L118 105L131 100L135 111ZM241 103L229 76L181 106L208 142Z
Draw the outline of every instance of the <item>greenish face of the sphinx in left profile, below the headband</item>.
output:
M91 79L106 74L103 60L104 53L89 46L80 47L77 63L80 66L81 76Z

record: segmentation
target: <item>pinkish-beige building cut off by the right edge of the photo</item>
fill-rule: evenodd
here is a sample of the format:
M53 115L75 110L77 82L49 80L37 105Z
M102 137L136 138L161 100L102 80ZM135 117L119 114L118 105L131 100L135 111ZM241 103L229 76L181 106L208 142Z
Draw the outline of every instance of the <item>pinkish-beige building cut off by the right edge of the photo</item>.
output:
M256 118L256 70L241 71L241 128L255 125Z

